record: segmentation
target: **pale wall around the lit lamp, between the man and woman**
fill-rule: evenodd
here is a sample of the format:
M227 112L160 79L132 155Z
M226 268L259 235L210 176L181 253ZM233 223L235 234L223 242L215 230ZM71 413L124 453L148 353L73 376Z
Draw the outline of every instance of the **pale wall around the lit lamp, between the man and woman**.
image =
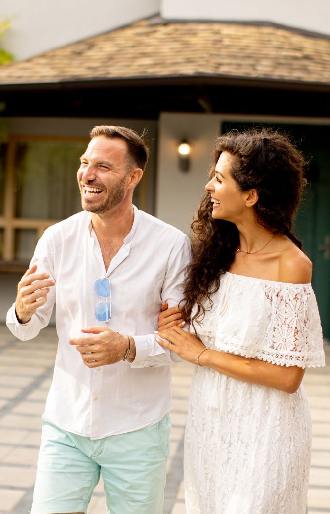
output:
M218 114L163 113L159 120L156 216L189 232L204 194L212 141L219 134ZM191 145L190 170L179 170L178 146Z

